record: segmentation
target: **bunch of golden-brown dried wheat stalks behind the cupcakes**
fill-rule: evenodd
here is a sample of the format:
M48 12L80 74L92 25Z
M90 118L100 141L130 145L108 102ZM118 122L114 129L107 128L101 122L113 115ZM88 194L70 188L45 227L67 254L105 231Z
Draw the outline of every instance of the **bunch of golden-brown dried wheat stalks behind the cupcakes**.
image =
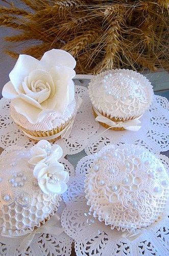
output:
M19 32L5 38L12 57L60 48L75 56L78 73L169 69L169 0L20 0L27 8L0 1L0 25Z

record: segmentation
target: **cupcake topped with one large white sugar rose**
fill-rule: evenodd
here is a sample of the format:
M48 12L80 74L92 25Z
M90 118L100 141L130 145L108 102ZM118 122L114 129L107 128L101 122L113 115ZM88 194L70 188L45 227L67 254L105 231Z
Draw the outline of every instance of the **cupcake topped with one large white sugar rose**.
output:
M50 50L40 60L19 55L2 94L11 99L11 116L28 137L58 138L75 118L75 66L63 50Z

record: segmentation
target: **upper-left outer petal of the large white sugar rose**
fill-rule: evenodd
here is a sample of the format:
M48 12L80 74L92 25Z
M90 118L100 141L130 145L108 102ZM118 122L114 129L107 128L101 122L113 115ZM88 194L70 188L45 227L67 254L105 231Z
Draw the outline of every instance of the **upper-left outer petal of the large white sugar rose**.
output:
M28 74L37 68L39 60L29 55L21 54L16 61L13 70L9 74L9 78L17 93L23 93L22 81Z

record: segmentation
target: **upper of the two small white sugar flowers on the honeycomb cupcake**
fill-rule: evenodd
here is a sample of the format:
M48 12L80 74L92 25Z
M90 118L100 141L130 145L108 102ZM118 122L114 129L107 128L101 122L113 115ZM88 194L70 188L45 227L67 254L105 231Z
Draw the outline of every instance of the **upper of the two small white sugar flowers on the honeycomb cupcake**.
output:
M50 162L55 163L63 155L62 148L59 145L51 145L47 140L40 140L30 150L31 158L28 161L30 164Z

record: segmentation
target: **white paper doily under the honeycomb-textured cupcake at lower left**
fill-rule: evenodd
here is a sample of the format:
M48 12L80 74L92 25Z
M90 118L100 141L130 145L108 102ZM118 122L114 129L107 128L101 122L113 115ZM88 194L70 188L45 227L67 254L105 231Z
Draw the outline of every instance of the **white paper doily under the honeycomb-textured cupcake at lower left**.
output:
M11 146L10 150L14 148L22 148L18 146ZM9 147L2 152L2 156L7 154L9 151ZM65 170L69 173L70 179L75 176L75 169L74 166L65 158L60 158L59 162L61 162ZM69 186L69 182L68 182ZM65 208L65 203L61 201L59 203L59 207L57 210L57 215L61 217L61 213ZM49 222L54 218L52 216ZM48 222L46 222L47 224ZM45 224L44 224L45 225ZM57 227L61 227L61 220L58 220L56 223L56 230ZM37 229L38 230L38 229ZM27 236L27 235L26 235ZM22 240L26 236L20 236L15 238L7 238L0 236L0 255L7 255L7 256L20 256L20 255L32 255L32 256L44 256L44 255L56 255L56 256L68 256L71 253L71 244L73 239L67 236L67 234L63 231L61 234L55 235L49 233L38 233L35 234L33 241L31 242L30 246L27 248L25 252L20 252L20 244Z

